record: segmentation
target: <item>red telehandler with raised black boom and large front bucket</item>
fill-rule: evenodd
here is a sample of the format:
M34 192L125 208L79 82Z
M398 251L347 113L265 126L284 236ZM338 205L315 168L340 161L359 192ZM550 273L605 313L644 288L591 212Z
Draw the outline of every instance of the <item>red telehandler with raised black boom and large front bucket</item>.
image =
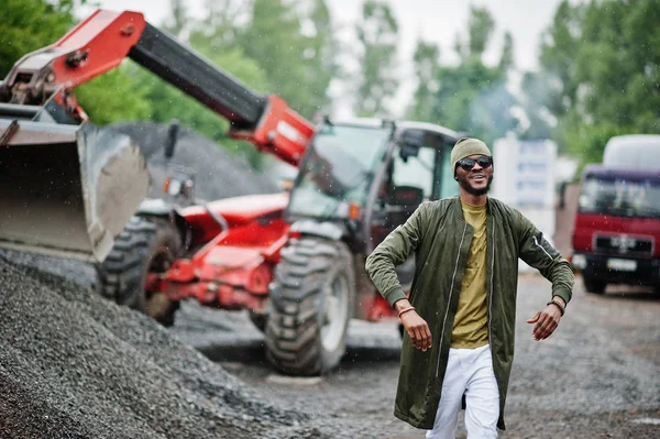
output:
M230 135L298 166L293 189L189 206L144 199L140 147L89 123L73 95L125 57L228 119ZM94 261L101 295L164 325L188 298L249 309L277 370L324 373L345 351L351 318L394 315L364 261L420 202L455 195L457 139L419 122L314 127L141 13L98 10L0 83L0 245ZM189 198L189 179L167 182L170 196ZM398 272L409 285L414 257Z

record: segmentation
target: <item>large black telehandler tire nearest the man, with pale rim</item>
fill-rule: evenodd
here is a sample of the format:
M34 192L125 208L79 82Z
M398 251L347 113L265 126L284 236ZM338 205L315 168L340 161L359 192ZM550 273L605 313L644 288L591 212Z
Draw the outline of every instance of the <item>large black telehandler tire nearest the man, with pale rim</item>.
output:
M343 242L302 237L282 250L270 287L266 358L288 375L339 365L355 297L353 255Z

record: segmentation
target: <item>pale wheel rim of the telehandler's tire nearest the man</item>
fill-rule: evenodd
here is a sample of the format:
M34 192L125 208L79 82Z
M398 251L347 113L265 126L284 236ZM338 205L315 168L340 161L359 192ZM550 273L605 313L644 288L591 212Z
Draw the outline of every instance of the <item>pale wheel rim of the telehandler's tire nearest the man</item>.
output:
M337 277L324 288L321 309L321 344L326 351L336 350L343 339L349 314L346 281Z

